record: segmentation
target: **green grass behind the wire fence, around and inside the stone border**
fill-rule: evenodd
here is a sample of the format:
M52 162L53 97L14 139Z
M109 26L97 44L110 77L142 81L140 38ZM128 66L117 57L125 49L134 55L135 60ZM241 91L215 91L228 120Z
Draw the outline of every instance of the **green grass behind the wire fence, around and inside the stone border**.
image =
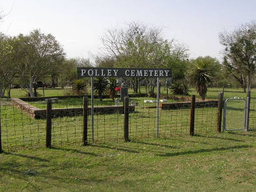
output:
M252 95L255 94L252 91ZM209 90L209 97L218 94L217 90ZM237 95L242 97L241 92L228 90L226 97ZM130 113L129 135L130 139L152 138L156 135L156 108L155 103L143 103L144 99L132 98L138 102L135 113ZM153 98L154 99L154 98ZM256 128L255 100L251 103L250 128ZM8 100L6 100L8 102ZM95 105L97 106L97 100ZM34 103L35 104L35 103ZM112 100L105 99L104 105L113 105ZM122 103L121 103L122 104ZM46 108L45 102L36 103L39 108ZM102 104L101 104L102 105ZM82 107L82 98L65 98L54 104L54 107ZM2 146L6 150L14 148L38 148L44 146L46 120L35 120L22 113L12 105L2 105ZM88 137L91 142L91 116L89 115ZM195 133L212 134L216 130L217 108L195 109ZM244 107L241 102L235 102L227 110L227 129L242 128L244 123ZM94 116L94 139L95 142L122 140L124 116L116 113L112 115ZM160 110L159 135L162 138L189 135L190 109ZM80 144L82 138L82 116L53 118L52 120L52 143L56 146Z

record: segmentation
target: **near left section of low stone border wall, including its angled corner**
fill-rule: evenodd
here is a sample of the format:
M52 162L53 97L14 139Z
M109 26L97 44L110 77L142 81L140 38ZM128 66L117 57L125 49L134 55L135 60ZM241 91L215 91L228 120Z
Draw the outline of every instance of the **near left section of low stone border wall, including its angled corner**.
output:
M14 106L19 108L22 112L27 113L29 117L36 119L46 118L46 109L41 109L29 105L19 98L12 98ZM91 108L87 109L88 114L91 114ZM135 111L135 106L129 106L130 112ZM124 113L124 107L121 106L106 106L106 107L94 107L95 114L114 114ZM77 108L52 108L52 117L71 117L75 115L82 115L82 107Z

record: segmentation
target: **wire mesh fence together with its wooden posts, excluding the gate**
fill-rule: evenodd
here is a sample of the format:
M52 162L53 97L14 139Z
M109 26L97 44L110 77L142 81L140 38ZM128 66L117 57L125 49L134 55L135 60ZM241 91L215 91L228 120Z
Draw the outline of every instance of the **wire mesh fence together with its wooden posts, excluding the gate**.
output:
M250 103L249 129L256 127L256 99L254 95ZM171 108L159 111L159 137L170 138L194 134L213 134L220 132L222 99L219 95L218 107L212 103L200 106L192 102L190 108L187 103L171 105ZM135 98L134 98L135 100ZM192 96L194 101L194 95ZM175 101L173 101L175 102ZM156 135L156 103L144 103L135 100L134 111L128 108L129 98L126 98L123 110L107 114L94 114L94 142L118 140L137 140L155 137ZM195 103L197 103L195 105ZM30 105L31 104L31 105ZM27 107L46 108L46 119L34 119L22 112L10 102L0 105L0 151L15 150L17 148L39 148L62 145L87 145L92 143L92 122L88 98L82 102L31 102ZM95 107L107 107L114 102L106 100L95 102ZM52 109L51 109L52 106ZM176 108L174 107L176 106ZM54 108L81 107L82 113L76 110L71 117L58 115L54 117ZM29 109L27 109L29 110Z

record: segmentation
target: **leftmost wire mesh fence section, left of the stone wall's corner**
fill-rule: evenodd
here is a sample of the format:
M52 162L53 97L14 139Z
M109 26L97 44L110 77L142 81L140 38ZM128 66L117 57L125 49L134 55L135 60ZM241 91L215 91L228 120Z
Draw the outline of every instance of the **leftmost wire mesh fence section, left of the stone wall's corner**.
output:
M27 107L27 111L31 109ZM1 103L2 148L37 148L45 145L44 120L31 118L9 102Z

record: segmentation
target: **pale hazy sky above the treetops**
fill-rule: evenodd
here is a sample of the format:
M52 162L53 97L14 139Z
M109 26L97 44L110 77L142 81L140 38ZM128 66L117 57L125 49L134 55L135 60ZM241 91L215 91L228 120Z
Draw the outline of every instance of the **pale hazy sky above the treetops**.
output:
M34 29L51 33L67 58L99 54L107 29L142 22L162 28L164 39L189 48L190 59L210 55L221 61L219 33L256 20L255 0L0 0L6 14L0 32L9 36Z

